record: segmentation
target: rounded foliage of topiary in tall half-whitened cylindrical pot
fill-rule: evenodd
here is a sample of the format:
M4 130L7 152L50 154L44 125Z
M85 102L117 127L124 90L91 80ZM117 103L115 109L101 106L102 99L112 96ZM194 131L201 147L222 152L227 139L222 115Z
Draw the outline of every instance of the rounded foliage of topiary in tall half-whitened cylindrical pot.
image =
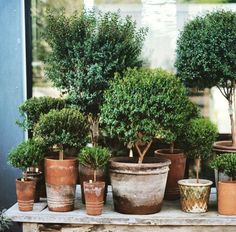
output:
M86 118L78 109L64 108L41 115L34 133L43 140L45 146L80 149L87 143L89 127Z

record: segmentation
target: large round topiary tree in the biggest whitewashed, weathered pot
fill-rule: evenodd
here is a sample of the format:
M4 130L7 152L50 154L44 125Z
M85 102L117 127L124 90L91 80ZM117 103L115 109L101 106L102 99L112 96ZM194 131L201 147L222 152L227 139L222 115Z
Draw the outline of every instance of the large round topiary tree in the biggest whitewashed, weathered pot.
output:
M114 158L110 162L116 211L135 214L160 211L170 162L144 157L155 137L172 142L174 130L183 128L185 94L180 81L161 69L129 69L124 79L117 76L106 92L101 109L106 133L132 144L139 154L138 160Z

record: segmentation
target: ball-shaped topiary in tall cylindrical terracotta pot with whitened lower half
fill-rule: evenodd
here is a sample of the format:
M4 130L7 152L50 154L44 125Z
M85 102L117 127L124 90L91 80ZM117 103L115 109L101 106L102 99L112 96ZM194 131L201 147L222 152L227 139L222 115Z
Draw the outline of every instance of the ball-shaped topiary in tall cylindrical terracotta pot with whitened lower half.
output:
M66 212L74 209L78 164L75 157L64 157L66 147L82 148L87 143L88 125L77 109L51 110L40 116L34 130L45 146L56 146L59 159L45 158L48 208Z

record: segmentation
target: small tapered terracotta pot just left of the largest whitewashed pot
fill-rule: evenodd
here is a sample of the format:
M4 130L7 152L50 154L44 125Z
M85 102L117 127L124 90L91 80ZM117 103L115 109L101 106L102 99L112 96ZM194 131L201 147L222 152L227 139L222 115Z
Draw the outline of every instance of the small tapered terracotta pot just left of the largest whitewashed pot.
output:
M104 203L105 182L89 183L84 181L83 184L87 214L92 216L101 215Z

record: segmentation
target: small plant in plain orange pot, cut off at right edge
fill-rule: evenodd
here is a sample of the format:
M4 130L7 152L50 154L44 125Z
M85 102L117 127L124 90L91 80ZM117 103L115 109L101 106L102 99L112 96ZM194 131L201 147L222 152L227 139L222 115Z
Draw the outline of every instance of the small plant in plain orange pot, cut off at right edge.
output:
M218 212L236 215L236 153L218 155L210 166L226 173L231 180L218 182Z

